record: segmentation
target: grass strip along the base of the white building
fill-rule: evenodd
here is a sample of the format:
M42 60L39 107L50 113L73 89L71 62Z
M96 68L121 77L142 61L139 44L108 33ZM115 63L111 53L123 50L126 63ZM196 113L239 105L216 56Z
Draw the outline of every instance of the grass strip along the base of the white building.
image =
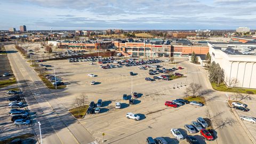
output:
M221 83L220 86L217 86L215 83L211 83L212 88L217 91L223 91L223 92L241 92L241 93L248 93L248 94L256 94L256 90L254 89L239 89L239 88L229 88L226 86L225 83Z

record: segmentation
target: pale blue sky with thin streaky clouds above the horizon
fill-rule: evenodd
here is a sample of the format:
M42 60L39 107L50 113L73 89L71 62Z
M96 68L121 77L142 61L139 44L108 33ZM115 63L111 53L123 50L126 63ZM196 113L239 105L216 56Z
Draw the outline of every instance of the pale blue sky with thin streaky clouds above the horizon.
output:
M256 29L256 0L1 0L0 29Z

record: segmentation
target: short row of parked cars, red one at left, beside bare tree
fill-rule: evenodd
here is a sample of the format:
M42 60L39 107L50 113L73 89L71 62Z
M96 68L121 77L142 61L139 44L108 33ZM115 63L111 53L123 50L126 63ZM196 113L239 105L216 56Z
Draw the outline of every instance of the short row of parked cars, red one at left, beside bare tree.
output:
M192 105L192 106L198 106L198 107L202 107L203 106L203 103L201 103L201 102L187 101L187 100L183 100L183 99L176 99L176 100L173 100L173 101L166 101L164 103L164 105L166 107L174 107L174 108L177 108L179 106L183 106L185 104L189 104L189 105Z

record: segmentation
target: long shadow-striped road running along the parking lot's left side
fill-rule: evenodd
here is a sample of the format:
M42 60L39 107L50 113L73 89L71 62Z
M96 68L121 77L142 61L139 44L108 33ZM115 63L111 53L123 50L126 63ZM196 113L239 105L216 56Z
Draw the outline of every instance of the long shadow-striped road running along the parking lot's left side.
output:
M5 45L7 51L13 51L14 45ZM26 95L28 107L36 113L33 128L39 138L41 122L43 143L91 143L92 135L80 124L68 109L58 101L64 90L51 91L39 79L37 73L18 52L7 54L18 85Z

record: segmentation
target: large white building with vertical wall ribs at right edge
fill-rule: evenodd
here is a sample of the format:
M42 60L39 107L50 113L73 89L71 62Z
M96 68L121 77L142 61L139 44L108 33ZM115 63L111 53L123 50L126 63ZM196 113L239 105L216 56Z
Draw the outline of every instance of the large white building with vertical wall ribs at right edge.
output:
M227 86L256 89L256 43L208 43L211 61L224 69Z

